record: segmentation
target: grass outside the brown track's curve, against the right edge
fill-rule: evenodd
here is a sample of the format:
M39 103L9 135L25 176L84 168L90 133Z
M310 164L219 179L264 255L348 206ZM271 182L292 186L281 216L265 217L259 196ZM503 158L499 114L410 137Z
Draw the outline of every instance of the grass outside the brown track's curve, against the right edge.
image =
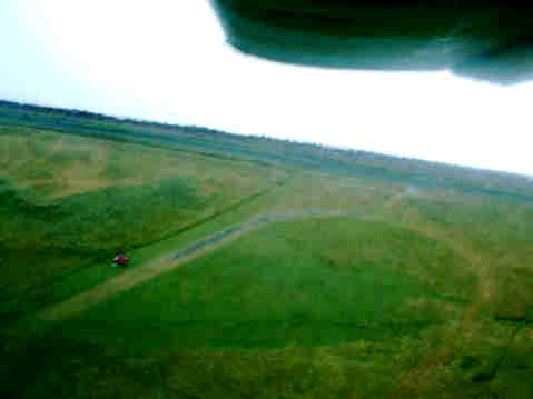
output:
M446 240L467 242L470 252L483 260L495 286L491 310L497 318L526 318L533 303L531 207L494 199L461 202L409 199L417 218L436 226Z

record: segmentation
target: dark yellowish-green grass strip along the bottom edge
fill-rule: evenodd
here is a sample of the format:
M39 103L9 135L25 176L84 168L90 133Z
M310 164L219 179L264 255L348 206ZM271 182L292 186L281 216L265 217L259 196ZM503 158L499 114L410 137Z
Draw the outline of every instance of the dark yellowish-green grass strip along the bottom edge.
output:
M195 349L136 358L50 336L20 353L6 370L3 389L17 398L338 398L353 391L379 397L398 379L391 357L401 345L389 347ZM36 361L26 365L24 355Z

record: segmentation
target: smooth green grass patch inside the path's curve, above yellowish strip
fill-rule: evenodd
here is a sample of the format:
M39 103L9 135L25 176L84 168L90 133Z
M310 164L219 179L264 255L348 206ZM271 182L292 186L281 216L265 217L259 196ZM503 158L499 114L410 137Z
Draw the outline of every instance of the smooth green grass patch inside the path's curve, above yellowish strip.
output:
M385 223L277 223L110 299L57 333L105 339L134 352L416 336L443 321L402 311L407 300L448 298L446 286L454 282L442 281L442 290L428 282L431 276L438 279L436 268L462 269L464 262L436 242ZM475 279L464 273L466 295Z

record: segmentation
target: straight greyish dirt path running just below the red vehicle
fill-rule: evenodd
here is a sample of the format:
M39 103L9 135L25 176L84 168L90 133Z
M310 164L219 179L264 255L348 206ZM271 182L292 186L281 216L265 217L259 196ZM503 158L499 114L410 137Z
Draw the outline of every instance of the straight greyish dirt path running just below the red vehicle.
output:
M170 255L165 255L146 266L129 269L122 275L119 275L111 280L89 289L88 291L76 295L63 302L41 310L37 313L37 318L49 321L60 321L73 317L87 310L88 308L107 300L109 297L126 291L134 286L198 259L199 257L213 252L216 249L235 241L239 237L257 230L266 225L283 220L312 217L328 218L337 216L348 216L348 213L330 210L309 210L292 213L272 213L258 216L247 222L237 223L219 230L214 235L171 252Z

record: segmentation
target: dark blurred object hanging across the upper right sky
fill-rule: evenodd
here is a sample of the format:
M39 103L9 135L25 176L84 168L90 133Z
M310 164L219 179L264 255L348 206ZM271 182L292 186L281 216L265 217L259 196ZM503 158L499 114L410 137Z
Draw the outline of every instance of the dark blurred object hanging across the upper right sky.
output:
M229 43L327 68L533 79L533 12L503 1L211 0Z

